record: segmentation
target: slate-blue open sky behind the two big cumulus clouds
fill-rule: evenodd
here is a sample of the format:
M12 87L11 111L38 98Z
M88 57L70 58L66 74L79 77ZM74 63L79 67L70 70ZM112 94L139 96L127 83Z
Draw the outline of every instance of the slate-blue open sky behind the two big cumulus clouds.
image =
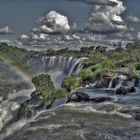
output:
M140 0L123 0L127 11L123 18L126 22L128 15L140 18ZM0 0L0 27L8 25L18 36L28 33L37 26L38 17L56 10L68 16L70 21L76 22L79 27L86 24L93 5L80 1L66 0ZM127 23L140 31L140 23ZM5 37L5 36L4 36ZM0 38L4 38L0 35Z

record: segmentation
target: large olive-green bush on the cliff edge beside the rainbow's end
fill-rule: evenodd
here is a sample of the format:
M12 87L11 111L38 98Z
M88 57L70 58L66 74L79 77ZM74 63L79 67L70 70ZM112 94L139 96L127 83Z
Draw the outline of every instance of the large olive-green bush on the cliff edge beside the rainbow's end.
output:
M54 100L63 98L68 93L64 88L56 90L51 77L48 74L40 74L35 76L33 77L32 82L35 85L38 98L45 101L47 108L52 105ZM33 105L28 104L27 109L30 109L30 107L33 107Z

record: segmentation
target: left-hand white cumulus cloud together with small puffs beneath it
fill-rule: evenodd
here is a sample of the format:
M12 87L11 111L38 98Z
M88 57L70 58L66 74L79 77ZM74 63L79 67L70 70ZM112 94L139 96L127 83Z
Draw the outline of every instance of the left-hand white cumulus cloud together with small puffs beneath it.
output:
M76 30L77 25L73 23L69 25L68 18L56 11L50 11L46 16L40 17L39 27L33 28L30 35L21 35L19 41L23 44L30 42L45 42L50 40L51 35L67 35L70 31ZM72 40L74 37L64 37L66 40ZM76 36L75 36L76 38ZM77 37L78 38L78 37Z

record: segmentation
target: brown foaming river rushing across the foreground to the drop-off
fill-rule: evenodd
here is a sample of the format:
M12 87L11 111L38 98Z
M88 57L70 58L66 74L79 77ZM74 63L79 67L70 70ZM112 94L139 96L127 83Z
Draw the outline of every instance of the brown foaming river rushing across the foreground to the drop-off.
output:
M90 96L111 97L102 103L65 103L57 100L52 109L39 112L31 120L20 120L8 127L0 138L5 140L139 140L139 89L125 96L115 95L109 89L95 91L80 88Z

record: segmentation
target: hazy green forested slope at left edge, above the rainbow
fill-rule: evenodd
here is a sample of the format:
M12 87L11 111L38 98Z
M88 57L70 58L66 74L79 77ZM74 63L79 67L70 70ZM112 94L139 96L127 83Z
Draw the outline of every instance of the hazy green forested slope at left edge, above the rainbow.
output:
M35 58L37 54L38 53L34 51L27 51L23 48L9 46L6 43L0 43L0 59L19 69L28 77L31 77L31 74L28 71L29 68L27 66L27 62L30 59Z

